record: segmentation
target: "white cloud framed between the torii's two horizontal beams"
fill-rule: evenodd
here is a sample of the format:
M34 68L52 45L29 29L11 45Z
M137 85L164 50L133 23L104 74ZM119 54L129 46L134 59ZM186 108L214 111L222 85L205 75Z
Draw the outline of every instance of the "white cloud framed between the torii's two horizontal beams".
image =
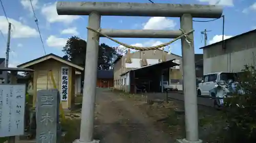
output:
M176 23L166 17L151 17L146 23L143 23L143 30L165 30L172 29Z

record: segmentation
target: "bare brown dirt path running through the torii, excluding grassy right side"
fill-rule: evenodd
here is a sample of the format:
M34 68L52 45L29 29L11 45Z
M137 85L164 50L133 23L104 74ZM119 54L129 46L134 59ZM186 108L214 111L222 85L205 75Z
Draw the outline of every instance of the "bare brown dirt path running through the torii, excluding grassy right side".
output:
M154 120L133 102L111 91L97 91L95 138L102 143L172 142ZM137 104L137 105L136 105Z

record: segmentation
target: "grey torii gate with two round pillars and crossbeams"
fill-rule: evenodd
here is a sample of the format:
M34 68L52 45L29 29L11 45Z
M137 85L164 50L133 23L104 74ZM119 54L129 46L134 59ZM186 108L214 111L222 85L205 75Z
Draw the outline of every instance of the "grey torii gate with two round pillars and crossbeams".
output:
M202 142L198 138L198 111L196 93L195 51L193 33L193 17L220 18L223 9L219 6L180 5L180 4L140 4L140 3L108 3L108 2L58 2L59 15L89 15L87 56L84 74L83 99L80 139L74 142L98 142L93 140L94 103L96 94L97 61L99 37L122 38L181 38L183 87L185 102L186 138L180 142ZM180 17L183 31L154 30L101 30L101 15L109 16L158 16ZM99 34L100 32L100 34ZM190 44L187 41L190 40Z

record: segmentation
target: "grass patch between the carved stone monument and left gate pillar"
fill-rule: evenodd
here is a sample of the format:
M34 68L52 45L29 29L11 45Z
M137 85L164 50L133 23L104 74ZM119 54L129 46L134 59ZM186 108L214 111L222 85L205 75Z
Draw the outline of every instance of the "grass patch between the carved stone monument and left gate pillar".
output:
M66 135L61 138L61 142L71 143L75 139L79 139L80 123L80 119L65 119L65 122L61 123L61 128L66 132Z

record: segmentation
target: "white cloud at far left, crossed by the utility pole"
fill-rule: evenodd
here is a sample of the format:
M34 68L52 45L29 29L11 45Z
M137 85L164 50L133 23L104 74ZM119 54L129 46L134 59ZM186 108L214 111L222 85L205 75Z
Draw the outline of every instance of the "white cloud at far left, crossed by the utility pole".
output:
M8 20L13 24L14 27L11 33L12 38L29 38L39 36L38 32L34 28L20 23L12 18L8 18ZM6 21L5 16L0 16L0 30L4 34L8 34L8 22Z

